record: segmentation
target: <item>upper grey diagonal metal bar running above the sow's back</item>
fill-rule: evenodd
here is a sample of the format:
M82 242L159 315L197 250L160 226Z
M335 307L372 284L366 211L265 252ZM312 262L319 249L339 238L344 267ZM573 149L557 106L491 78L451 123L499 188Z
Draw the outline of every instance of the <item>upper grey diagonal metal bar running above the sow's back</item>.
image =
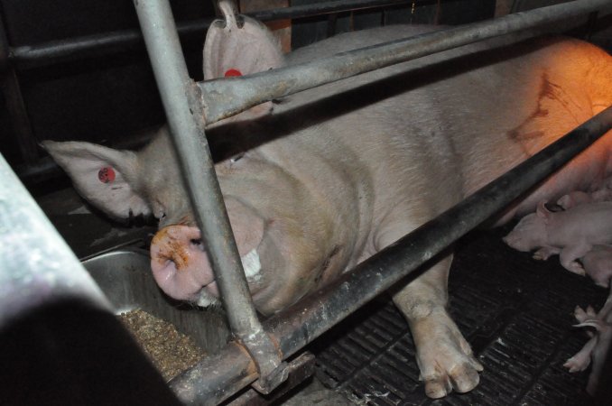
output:
M265 101L289 96L301 90L350 78L360 73L610 7L612 7L610 0L581 0L551 5L524 13L505 15L494 20L470 23L448 30L428 32L412 38L342 52L326 59L312 60L291 67L244 77L200 82L198 86L201 89L201 103L204 106L206 123L215 123Z

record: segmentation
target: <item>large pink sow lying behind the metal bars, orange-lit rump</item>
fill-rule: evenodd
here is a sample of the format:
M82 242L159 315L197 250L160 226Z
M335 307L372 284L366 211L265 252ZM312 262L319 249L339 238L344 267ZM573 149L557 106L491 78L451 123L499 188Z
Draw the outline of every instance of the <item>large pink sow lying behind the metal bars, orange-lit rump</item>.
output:
M313 60L423 30L429 29L342 34L288 60ZM561 38L502 48L509 42L497 39L380 69L288 97L271 114L269 104L213 125L209 137L247 145L216 170L240 254L258 255L260 266L247 276L257 309L268 315L291 305L612 103L612 58L604 51ZM252 48L227 54L248 60ZM205 59L216 55L205 50ZM234 68L234 62L216 62L205 78ZM542 198L556 200L603 180L611 170L608 138L508 208L499 222L533 210ZM198 233L190 228L193 217L165 129L140 152L44 145L79 192L108 214L153 213L160 227L172 226L152 246L158 283L180 299L213 300L214 277L194 242ZM115 169L113 182L98 181L104 167ZM451 257L440 257L393 295L413 331L425 391L433 398L470 391L482 370L445 309Z

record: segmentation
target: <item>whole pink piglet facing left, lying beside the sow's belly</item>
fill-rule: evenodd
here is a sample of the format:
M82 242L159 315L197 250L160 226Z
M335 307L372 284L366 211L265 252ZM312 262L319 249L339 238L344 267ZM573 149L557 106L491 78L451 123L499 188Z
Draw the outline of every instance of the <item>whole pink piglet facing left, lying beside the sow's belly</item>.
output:
M533 254L535 259L546 260L559 254L565 269L584 275L578 260L593 245L612 244L612 202L582 204L552 212L542 200L535 213L523 217L504 241L518 251L539 248Z

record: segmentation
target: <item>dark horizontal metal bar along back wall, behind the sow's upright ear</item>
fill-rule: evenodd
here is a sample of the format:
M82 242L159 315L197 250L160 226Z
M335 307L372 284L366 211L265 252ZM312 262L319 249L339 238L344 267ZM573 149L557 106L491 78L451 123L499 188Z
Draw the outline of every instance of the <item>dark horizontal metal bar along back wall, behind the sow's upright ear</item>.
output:
M276 10L262 10L246 13L260 21L283 20L286 18L301 18L312 15L338 13L351 9L366 9L386 5L405 5L405 0L353 0L317 3L314 5L299 5ZM181 39L201 39L212 19L200 19L186 23L178 23ZM45 42L32 46L15 47L9 55L10 61L17 69L31 69L49 66L51 64L79 60L88 57L100 57L120 51L137 49L143 42L143 36L138 30L107 32L99 35L89 35L66 41Z

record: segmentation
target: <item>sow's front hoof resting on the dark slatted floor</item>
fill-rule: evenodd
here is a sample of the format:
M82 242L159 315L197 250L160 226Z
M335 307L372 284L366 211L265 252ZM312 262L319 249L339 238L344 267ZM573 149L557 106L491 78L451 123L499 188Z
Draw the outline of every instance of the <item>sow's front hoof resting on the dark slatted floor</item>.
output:
M425 393L437 399L453 390L471 391L480 381L483 366L448 315L431 318L412 325Z

